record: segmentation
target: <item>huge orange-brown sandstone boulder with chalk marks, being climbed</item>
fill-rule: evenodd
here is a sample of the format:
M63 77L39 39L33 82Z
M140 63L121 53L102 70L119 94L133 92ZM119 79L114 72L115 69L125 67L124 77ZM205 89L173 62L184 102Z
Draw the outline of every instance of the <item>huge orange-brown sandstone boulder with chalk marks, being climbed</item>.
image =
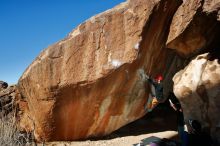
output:
M130 0L44 50L18 83L27 105L21 106L21 128L33 130L38 141L77 140L109 134L142 117L149 94L142 73L175 72L170 66L178 57L165 43L179 4Z

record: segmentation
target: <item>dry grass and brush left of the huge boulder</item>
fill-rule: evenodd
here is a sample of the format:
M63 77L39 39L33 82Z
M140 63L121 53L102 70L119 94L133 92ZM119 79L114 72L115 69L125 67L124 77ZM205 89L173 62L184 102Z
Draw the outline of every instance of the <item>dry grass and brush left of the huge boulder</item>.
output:
M32 134L19 131L16 125L16 86L0 93L0 146L34 145Z

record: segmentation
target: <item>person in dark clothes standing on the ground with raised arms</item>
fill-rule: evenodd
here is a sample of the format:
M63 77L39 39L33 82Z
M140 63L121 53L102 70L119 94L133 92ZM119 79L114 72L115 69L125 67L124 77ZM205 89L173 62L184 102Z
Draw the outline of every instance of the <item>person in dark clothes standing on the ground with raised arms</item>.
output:
M187 146L186 141L187 141L187 135L184 132L184 116L183 116L183 110L181 107L181 104L179 100L176 98L173 92L169 93L168 96L170 106L175 110L176 116L177 116L177 131L178 135L180 138L180 142L182 146Z

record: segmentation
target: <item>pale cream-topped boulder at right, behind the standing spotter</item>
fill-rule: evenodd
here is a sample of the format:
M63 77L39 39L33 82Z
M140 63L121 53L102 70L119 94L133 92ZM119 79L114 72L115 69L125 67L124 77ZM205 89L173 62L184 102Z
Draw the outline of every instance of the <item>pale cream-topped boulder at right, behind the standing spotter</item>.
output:
M185 120L196 119L220 142L220 64L208 54L199 55L174 80Z

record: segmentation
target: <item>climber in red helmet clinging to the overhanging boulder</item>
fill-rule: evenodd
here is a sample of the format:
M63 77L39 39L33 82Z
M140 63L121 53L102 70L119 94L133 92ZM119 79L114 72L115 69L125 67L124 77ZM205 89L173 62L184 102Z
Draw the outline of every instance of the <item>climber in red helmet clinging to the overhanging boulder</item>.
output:
M158 75L155 79L151 79L148 75L145 74L145 78L151 85L151 93L144 108L148 112L151 112L154 107L164 101L162 83L163 76Z

